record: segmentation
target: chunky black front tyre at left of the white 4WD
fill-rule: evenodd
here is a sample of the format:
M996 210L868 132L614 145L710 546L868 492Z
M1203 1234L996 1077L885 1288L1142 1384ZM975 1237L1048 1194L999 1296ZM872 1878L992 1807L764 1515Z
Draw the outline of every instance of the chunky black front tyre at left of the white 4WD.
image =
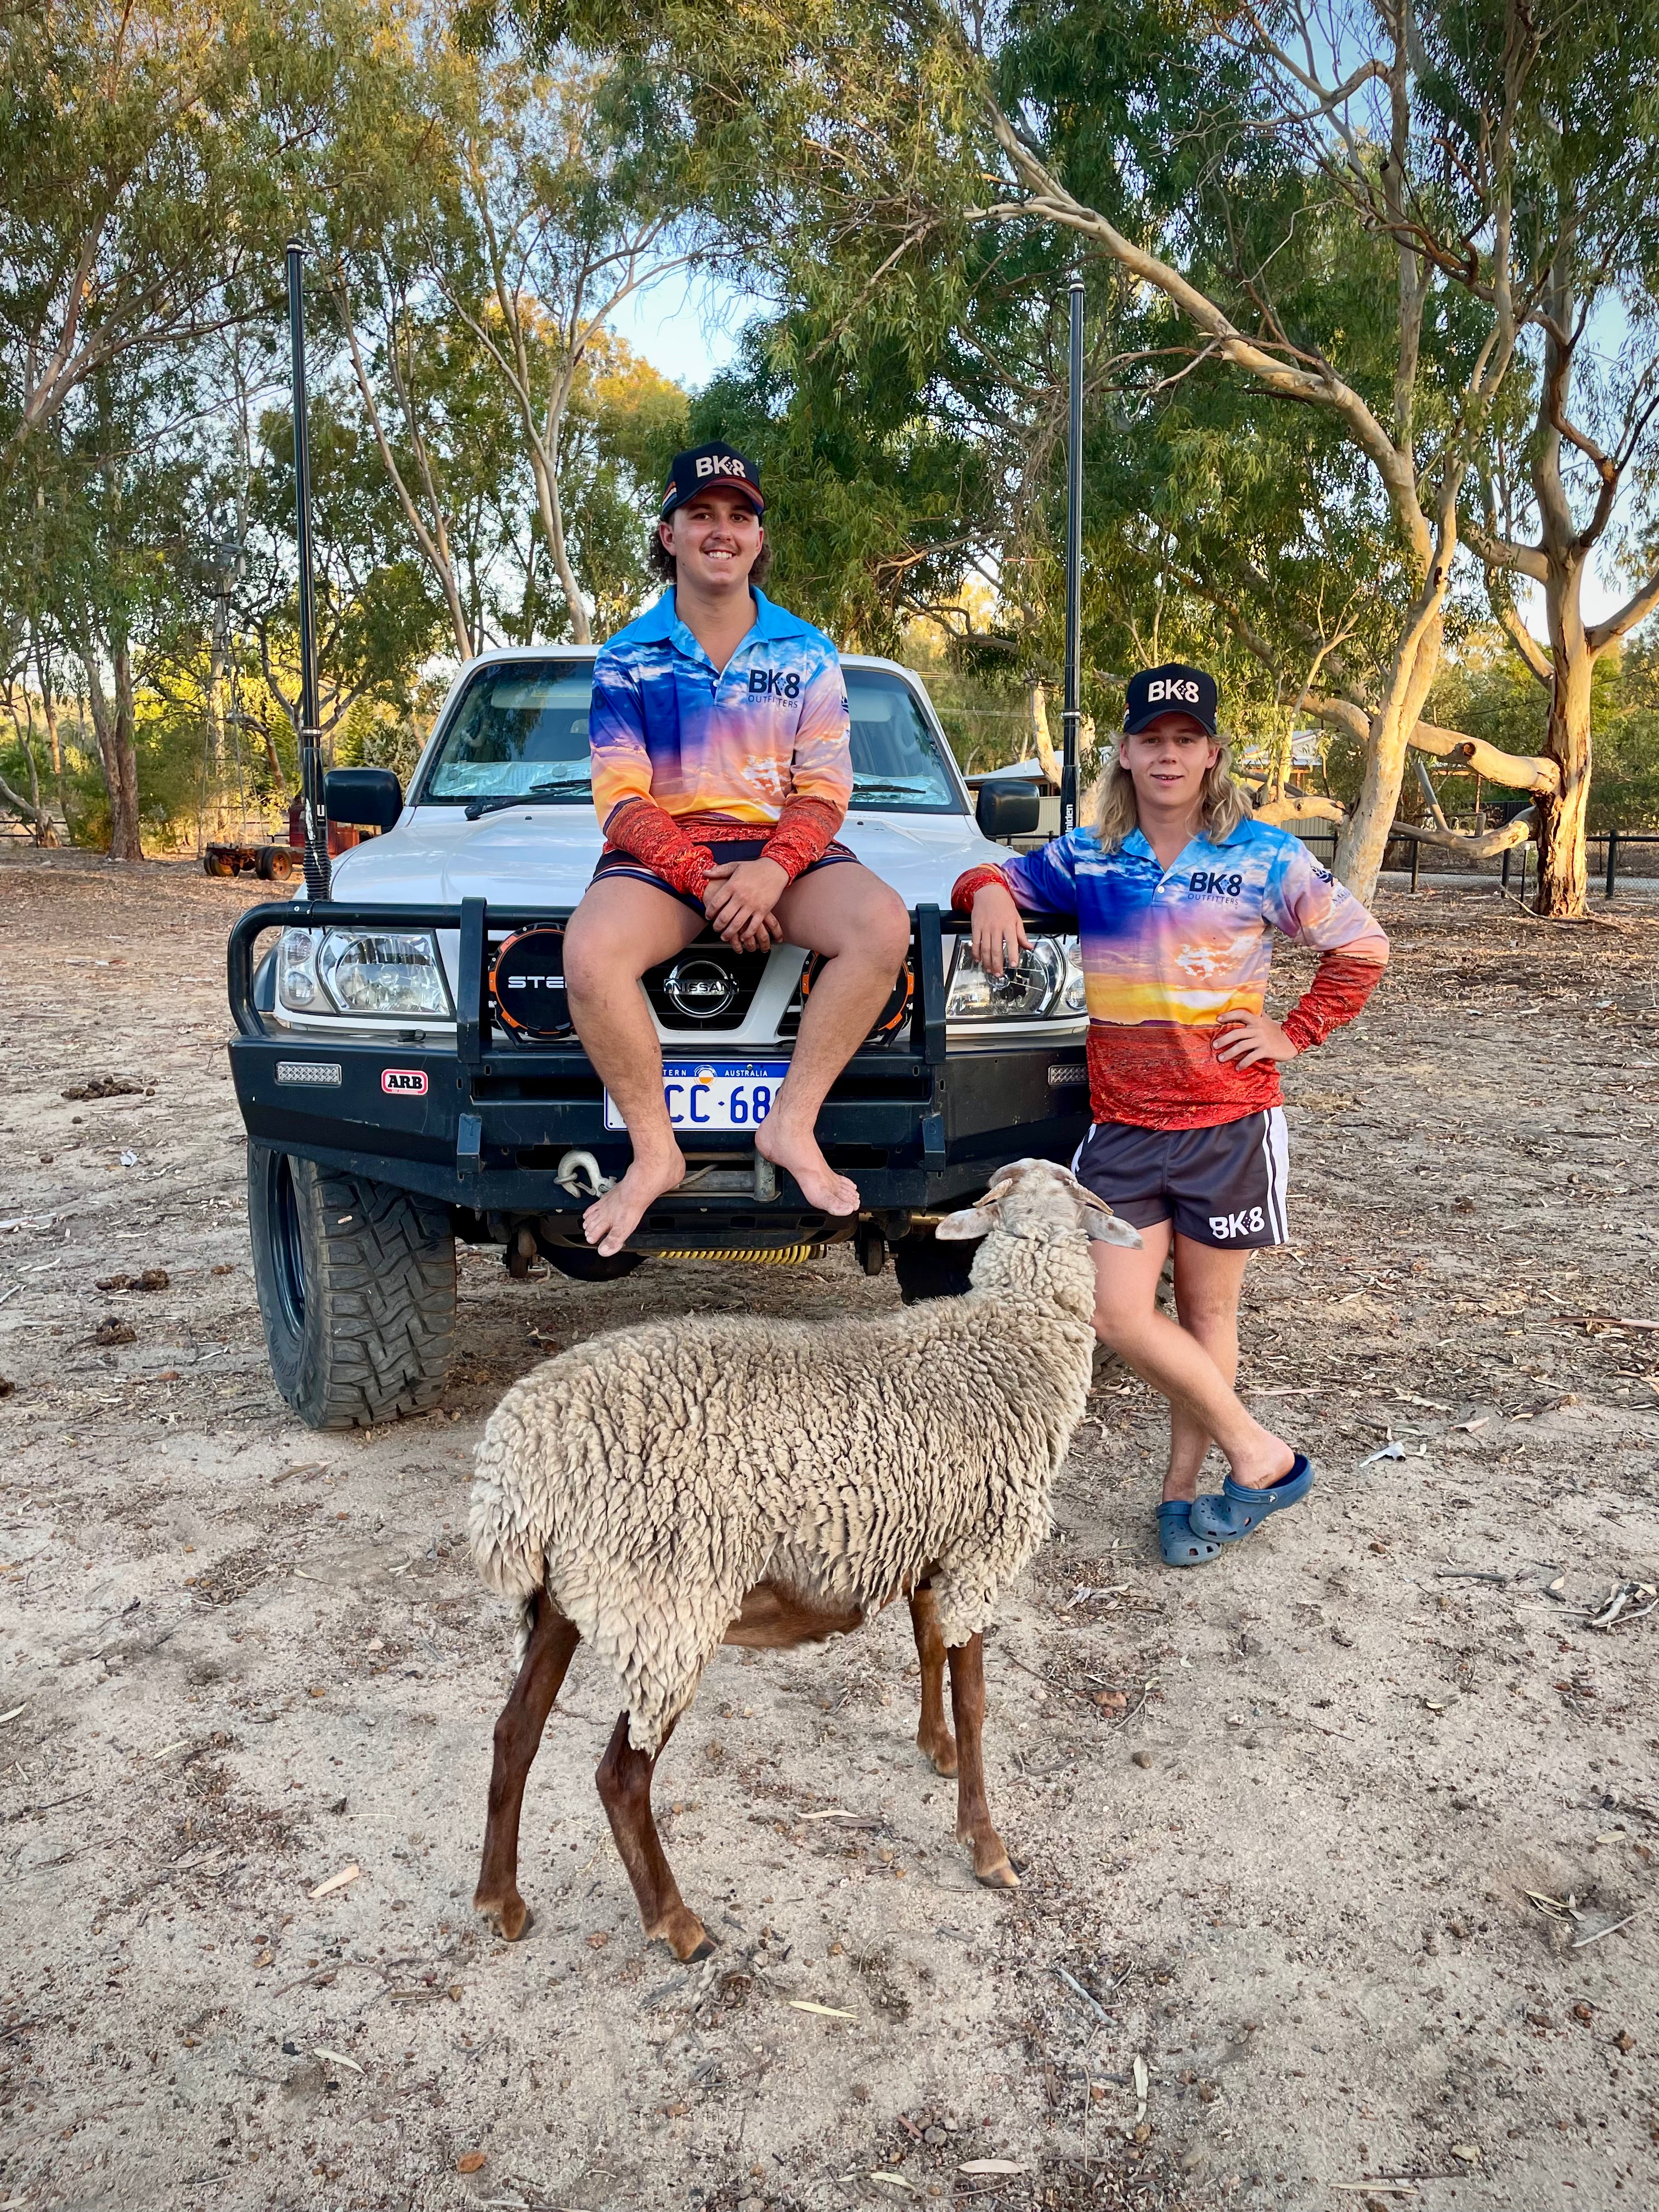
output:
M250 1144L248 1230L270 1369L310 1429L438 1405L456 1336L445 1206Z

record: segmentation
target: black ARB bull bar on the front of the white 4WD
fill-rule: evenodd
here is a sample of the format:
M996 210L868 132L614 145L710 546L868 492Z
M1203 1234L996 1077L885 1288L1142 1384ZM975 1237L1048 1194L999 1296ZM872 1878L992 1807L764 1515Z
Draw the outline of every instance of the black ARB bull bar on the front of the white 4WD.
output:
M562 929L573 907L458 905L376 907L281 900L250 907L226 949L237 1035L230 1068L248 1135L272 1150L314 1159L447 1201L480 1217L580 1214L580 1177L557 1179L566 1152L584 1150L604 1172L622 1172L628 1139L604 1126L604 1086L575 1035L524 1042L491 1009L495 942L522 929ZM1071 933L1057 918L1026 918L1044 936ZM325 1031L272 1029L254 1004L257 945L270 929L445 931L458 938L456 1037L416 1042L418 1020L396 1031L334 1040ZM1031 1152L1068 1159L1088 1128L1082 1040L1002 1037L947 1053L945 940L962 916L916 907L911 916L911 1004L898 1033L847 1062L818 1115L832 1166L858 1183L867 1214L931 1212L980 1192L991 1170ZM261 993L263 995L263 993ZM349 1029L341 1015L341 1029ZM1048 1024L1044 1024L1048 1026ZM1053 1024L1060 1029L1062 1024ZM677 1044L666 1046L675 1055ZM721 1033L686 1037L681 1057L721 1051L752 1057L774 1046L723 1044ZM787 1046L785 1046L787 1051ZM754 1161L743 1130L701 1139L701 1161ZM723 1175L723 1186L741 1179ZM708 1183L708 1177L703 1179ZM641 1243L801 1237L823 1228L787 1177L774 1199L754 1190L690 1186L653 1210ZM657 1219L661 1214L661 1221ZM575 1221L571 1223L575 1230ZM898 1228L896 1221L889 1228ZM491 1230L493 1234L493 1230Z

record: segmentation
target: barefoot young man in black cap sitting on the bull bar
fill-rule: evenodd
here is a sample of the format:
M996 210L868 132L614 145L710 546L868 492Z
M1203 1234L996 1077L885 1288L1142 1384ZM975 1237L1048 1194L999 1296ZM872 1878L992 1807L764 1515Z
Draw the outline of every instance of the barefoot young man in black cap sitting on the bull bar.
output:
M641 978L706 927L739 951L823 953L790 1073L754 1133L807 1206L858 1212L814 1135L909 949L909 914L838 845L847 688L830 639L757 588L761 476L728 445L677 453L653 540L668 588L593 668L593 803L606 849L564 938L571 1018L628 1126L633 1166L588 1208L602 1254L686 1175Z

